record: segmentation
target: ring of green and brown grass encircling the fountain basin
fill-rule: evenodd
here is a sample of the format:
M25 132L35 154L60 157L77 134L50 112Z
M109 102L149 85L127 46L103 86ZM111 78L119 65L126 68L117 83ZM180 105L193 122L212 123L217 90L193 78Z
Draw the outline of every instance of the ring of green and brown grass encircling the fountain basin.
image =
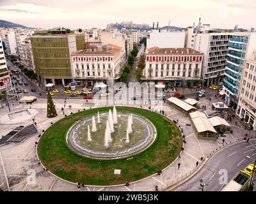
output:
M128 158L102 161L71 150L66 142L68 129L84 117L108 110L109 107L85 110L52 124L38 143L38 157L42 164L58 177L71 182L84 181L87 185L110 186L148 177L157 170L163 170L179 155L182 136L171 120L148 110L123 106L116 107L116 110L144 116L156 127L157 138L148 149ZM116 169L121 170L120 175L114 174Z

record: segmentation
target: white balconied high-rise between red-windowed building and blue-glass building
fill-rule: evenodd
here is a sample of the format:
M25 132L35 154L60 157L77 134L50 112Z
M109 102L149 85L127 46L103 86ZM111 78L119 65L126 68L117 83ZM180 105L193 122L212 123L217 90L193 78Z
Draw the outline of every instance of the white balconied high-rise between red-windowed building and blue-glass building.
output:
M230 33L216 33L216 31L193 33L190 30L188 29L188 38L191 39L191 47L204 53L202 76L205 85L222 82L227 65Z

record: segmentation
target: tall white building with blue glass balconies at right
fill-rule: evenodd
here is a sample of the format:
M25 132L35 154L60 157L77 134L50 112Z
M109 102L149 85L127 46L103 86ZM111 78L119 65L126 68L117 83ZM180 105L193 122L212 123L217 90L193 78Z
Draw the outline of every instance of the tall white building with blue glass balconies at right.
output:
M239 99L244 61L252 59L255 45L256 33L235 32L230 36L223 90L225 91L225 102L235 109Z

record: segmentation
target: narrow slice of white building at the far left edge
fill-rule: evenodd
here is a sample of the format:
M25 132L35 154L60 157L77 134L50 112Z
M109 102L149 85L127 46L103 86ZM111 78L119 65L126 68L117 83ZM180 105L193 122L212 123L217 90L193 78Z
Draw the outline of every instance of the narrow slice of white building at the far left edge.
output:
M10 71L7 68L3 42L0 37L0 91L5 89L8 84L11 84Z

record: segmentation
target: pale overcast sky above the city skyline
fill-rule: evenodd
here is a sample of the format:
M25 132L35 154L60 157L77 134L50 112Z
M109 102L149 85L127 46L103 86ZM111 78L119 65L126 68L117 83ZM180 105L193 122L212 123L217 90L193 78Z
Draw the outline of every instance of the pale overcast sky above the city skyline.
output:
M198 22L211 28L256 26L255 0L0 0L0 19L29 27L105 28L109 23L159 22L187 27Z

